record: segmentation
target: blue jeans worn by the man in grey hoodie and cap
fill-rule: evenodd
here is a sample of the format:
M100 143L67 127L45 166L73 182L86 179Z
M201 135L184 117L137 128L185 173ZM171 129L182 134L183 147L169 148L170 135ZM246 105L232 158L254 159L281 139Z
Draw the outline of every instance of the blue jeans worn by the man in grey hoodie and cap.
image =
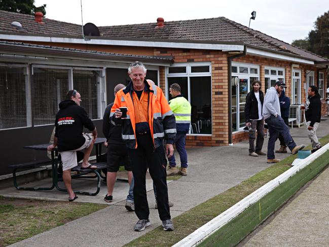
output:
M274 147L279 134L282 135L284 142L290 151L296 147L296 143L294 142L293 137L290 135L289 127L284 123L283 119L279 115L277 117L271 115L271 117L265 119L265 122L269 127L270 133L270 138L267 145L268 159L275 159Z

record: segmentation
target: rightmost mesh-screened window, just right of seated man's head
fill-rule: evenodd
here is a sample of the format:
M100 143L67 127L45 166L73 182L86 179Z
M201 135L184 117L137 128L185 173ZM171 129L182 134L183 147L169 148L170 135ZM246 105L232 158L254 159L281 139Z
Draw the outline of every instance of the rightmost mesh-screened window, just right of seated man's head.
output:
M90 119L98 119L97 87L98 72L95 70L73 70L73 88L81 94L81 106L85 108Z

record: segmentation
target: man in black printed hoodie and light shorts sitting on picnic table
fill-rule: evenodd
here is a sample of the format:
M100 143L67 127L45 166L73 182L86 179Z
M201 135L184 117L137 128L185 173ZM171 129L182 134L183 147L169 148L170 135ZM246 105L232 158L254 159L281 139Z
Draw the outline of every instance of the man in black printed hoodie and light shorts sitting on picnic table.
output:
M81 169L97 168L88 162L97 137L97 130L86 110L80 107L81 101L81 95L77 90L69 90L66 94L66 100L59 103L59 111L55 119L54 144L47 148L51 151L58 146L58 152L63 162L63 181L69 201L78 198L71 186L71 168L78 165L76 152L86 149ZM92 132L83 133L83 127Z

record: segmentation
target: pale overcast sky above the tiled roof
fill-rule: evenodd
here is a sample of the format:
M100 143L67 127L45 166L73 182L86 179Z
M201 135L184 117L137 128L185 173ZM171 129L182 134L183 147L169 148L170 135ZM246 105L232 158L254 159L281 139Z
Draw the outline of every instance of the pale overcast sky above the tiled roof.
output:
M35 0L36 7L47 4L49 19L81 24L80 0ZM329 10L325 0L82 0L83 23L112 26L193 20L224 16L250 28L290 43L305 39L317 17Z

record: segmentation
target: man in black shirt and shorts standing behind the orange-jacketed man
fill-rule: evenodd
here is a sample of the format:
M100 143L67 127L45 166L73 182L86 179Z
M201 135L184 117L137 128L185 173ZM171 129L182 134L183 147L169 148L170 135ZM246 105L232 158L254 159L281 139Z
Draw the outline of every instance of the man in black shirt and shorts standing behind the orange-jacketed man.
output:
M114 96L117 92L124 88L125 85L118 84L114 88ZM131 185L132 166L128 157L128 149L126 144L123 142L121 132L121 124L114 125L109 119L111 108L113 103L108 104L104 116L103 116L103 134L106 137L107 143L107 175L106 175L106 186L107 193L104 197L104 201L112 202L113 200L113 189L116 183L117 172L121 164L125 166L125 170L128 171L128 182ZM134 210L134 198L133 195L128 194L125 207L129 211Z

